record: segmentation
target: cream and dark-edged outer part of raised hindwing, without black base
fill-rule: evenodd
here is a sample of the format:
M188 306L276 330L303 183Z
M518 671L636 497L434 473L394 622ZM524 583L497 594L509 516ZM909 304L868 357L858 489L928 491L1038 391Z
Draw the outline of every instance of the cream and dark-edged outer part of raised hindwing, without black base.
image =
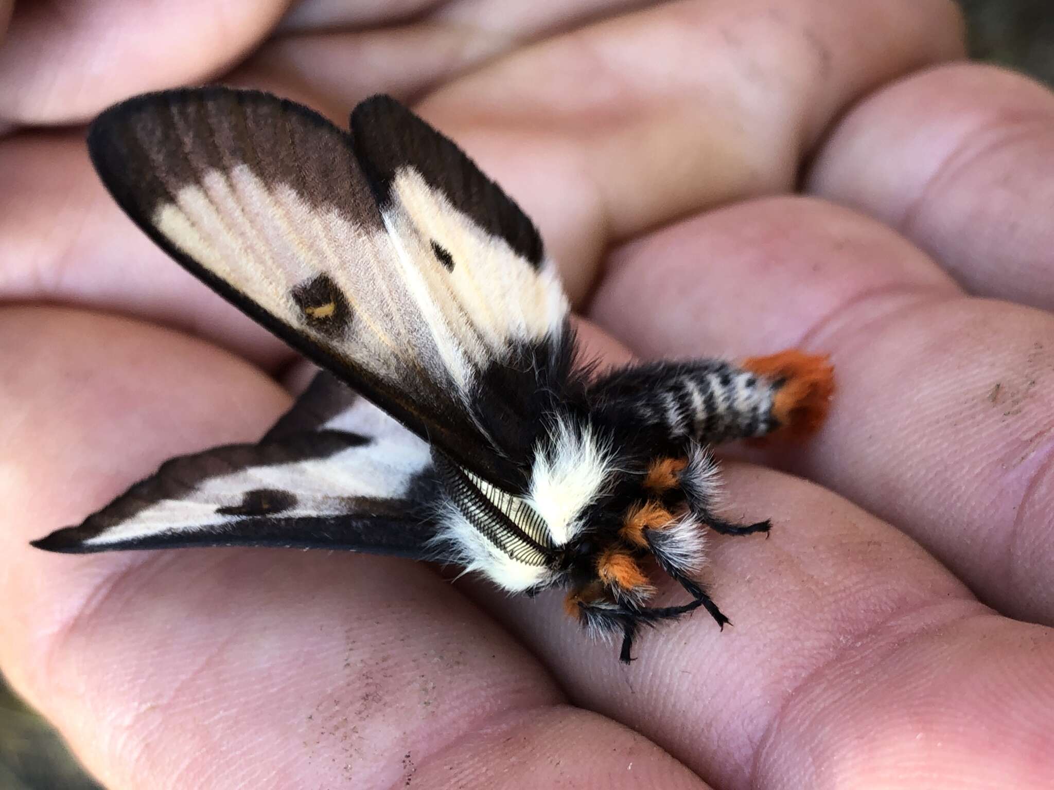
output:
M567 300L538 229L465 152L390 96L360 102L351 132L385 225L434 277L429 290L473 341L463 343L473 361L561 329Z

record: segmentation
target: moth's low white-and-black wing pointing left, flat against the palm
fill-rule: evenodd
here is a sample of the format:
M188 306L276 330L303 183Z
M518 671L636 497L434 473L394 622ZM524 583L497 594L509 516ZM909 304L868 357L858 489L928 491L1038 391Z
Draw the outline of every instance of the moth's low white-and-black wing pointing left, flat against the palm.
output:
M83 524L34 542L85 553L191 546L437 558L428 446L328 373L257 445L165 461Z

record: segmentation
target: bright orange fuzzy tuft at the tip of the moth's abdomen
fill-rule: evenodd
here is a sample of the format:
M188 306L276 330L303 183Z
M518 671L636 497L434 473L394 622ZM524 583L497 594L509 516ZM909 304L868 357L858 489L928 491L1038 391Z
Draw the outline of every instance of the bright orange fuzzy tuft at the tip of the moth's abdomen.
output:
M773 416L779 433L804 437L815 433L827 416L835 392L835 369L826 356L784 351L767 357L752 357L743 368L783 383L773 397Z

